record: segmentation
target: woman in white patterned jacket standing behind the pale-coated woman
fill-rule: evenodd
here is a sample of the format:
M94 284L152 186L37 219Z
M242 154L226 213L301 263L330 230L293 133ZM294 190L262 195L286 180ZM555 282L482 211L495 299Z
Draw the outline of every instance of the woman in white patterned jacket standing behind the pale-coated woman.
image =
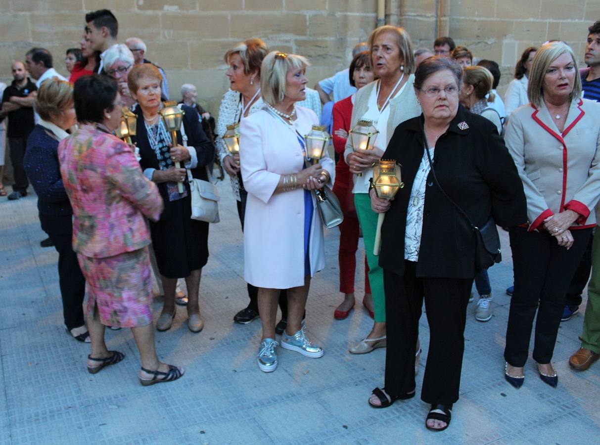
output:
M225 53L224 59L229 69L229 91L227 91L219 108L217 120L217 151L221 165L229 174L233 196L238 205L239 222L244 230L244 216L248 192L244 188L239 162L239 123L242 119L256 113L264 106L260 94L260 65L269 52L265 42L260 38L249 38L236 44ZM248 324L259 317L258 289L248 283L250 302L233 317L233 321ZM287 295L282 290L279 298L281 321L277 324L277 333L283 332L287 320ZM303 317L304 318L304 317Z

